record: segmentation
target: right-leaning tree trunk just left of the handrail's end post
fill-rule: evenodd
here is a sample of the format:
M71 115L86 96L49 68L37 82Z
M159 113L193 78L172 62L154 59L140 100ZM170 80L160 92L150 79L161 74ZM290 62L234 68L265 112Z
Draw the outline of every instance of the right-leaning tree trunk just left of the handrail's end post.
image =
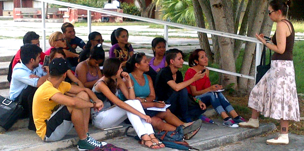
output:
M266 7L267 7L267 3L268 0L261 0L260 4L257 5L257 9L255 9L256 11L253 13L255 14L255 17L251 17L254 18L252 20L252 26L250 28L250 26L248 26L248 28L250 29L248 31L247 36L250 37L255 37L255 33L259 33L261 30L261 26L264 20L264 15L266 13ZM261 9L259 9L261 8ZM250 24L248 24L250 25ZM255 51L255 46L256 43L252 43L252 42L246 42L245 45L245 51L244 51L244 56L243 56L243 61L242 61L242 65L241 65L241 69L240 69L240 74L245 74L248 75L249 71L250 71L250 67L251 67L251 63L252 63L252 59L254 56L254 51ZM247 78L239 78L238 84L239 84L239 90L240 91L247 91Z

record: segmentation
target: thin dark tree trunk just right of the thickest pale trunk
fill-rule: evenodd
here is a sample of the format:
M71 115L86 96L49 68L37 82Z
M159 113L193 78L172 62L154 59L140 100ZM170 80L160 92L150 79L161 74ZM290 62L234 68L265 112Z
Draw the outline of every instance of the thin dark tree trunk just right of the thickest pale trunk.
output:
M244 36L247 32L248 17L249 17L248 15L249 15L249 12L250 12L250 8L251 8L251 0L248 0L247 7L246 7L246 10L245 10L245 14L243 16L243 20L242 20L242 23L241 23L239 35ZM237 57L239 57L240 50L242 48L243 42L244 42L243 40L236 40L235 41L234 54L233 54L234 60L237 60Z

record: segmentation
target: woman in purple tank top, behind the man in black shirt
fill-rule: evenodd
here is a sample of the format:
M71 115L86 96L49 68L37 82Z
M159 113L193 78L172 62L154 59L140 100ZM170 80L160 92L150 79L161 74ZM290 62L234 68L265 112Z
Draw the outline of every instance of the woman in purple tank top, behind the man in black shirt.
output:
M154 57L150 60L149 65L158 72L161 68L166 67L166 43L164 38L157 37L152 40L152 50Z

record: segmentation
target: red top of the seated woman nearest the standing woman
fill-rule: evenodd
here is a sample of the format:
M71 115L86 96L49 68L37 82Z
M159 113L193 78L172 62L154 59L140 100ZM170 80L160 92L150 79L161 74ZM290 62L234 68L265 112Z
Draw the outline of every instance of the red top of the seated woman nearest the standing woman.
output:
M196 74L196 71L194 69L192 69L192 68L189 68L186 71L186 73L185 73L185 79L184 79L184 81L187 81L187 80L191 79L195 74ZM203 78L201 78L201 79L199 79L197 81L194 81L190 85L195 86L196 87L196 91L201 91L201 90L204 90L206 88L209 88L211 86L211 82L210 82L209 77L207 77L205 75L205 77L203 77ZM186 88L188 90L188 93L193 96L191 88L190 88L190 85L188 85Z

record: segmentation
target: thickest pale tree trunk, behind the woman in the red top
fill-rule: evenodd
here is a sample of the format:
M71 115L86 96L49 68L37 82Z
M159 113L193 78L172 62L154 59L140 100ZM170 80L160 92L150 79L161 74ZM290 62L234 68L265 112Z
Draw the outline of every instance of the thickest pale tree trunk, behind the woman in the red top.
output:
M232 27L228 26L231 25L231 23L227 23L226 18L233 18L233 16L225 16L225 10L227 10L227 6L225 6L220 0L212 0L210 1L210 6L212 10L212 15L214 19L214 23L216 26L216 30L226 32L228 33L232 28L234 31L234 24L232 23ZM232 13L231 13L232 14ZM224 26L225 25L225 26ZM220 47L220 56L221 56L221 62L222 62L222 69L236 72L235 69L235 62L233 58L233 46L234 46L234 40L226 37L219 36L219 47ZM224 87L227 85L235 83L232 87L233 89L237 89L237 77L228 75L228 74L222 74L222 84Z

